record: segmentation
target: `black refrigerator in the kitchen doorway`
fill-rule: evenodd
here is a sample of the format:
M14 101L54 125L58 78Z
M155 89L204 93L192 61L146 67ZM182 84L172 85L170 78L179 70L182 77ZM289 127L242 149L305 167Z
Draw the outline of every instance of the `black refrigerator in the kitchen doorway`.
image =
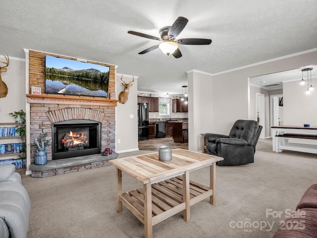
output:
M138 103L139 140L149 140L149 104Z

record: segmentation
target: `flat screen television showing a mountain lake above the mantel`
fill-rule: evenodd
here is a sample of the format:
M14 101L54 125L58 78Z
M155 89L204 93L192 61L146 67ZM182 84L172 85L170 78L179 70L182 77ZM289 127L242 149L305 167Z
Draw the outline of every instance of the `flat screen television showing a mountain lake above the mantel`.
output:
M110 67L45 56L45 93L107 97Z

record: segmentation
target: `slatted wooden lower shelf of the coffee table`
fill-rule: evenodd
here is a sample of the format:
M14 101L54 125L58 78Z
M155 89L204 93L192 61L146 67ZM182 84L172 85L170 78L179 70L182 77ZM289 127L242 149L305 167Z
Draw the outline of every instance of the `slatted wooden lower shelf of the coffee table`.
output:
M210 187L190 180L190 206L212 195ZM143 188L120 195L120 201L144 224ZM152 184L152 225L185 210L182 177Z

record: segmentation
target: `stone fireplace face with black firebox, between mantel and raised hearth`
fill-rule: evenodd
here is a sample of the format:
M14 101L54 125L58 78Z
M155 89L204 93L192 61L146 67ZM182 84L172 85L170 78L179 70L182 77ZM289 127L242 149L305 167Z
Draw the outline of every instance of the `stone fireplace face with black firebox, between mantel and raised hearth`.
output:
M39 100L40 102L41 100ZM43 102L43 101L42 101ZM56 103L56 102L55 102ZM31 103L31 143L41 133L48 133L52 138L52 146L48 148L48 161L71 158L76 156L100 154L106 147L115 150L115 108L95 105L73 105L49 103ZM74 107L75 106L75 107ZM91 108L93 107L93 108ZM61 144L66 131L78 131L82 128L89 135L87 148L66 151ZM58 133L59 132L59 133ZM91 135L90 135L91 134ZM56 137L57 136L57 137ZM95 138L93 138L93 136ZM92 140L92 141L90 141ZM69 150L69 149L68 149ZM35 154L31 154L31 163L35 161Z

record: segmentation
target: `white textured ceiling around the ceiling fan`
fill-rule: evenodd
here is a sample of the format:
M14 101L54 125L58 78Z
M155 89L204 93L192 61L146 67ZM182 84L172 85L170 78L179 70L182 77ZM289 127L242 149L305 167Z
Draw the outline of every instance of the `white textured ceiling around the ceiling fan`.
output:
M213 74L317 48L316 12L316 0L1 0L0 54L25 58L25 48L115 64L139 76L139 91L180 94L188 70ZM179 59L138 55L158 42L127 31L159 36L178 16L189 20L178 39L211 45L180 45Z

